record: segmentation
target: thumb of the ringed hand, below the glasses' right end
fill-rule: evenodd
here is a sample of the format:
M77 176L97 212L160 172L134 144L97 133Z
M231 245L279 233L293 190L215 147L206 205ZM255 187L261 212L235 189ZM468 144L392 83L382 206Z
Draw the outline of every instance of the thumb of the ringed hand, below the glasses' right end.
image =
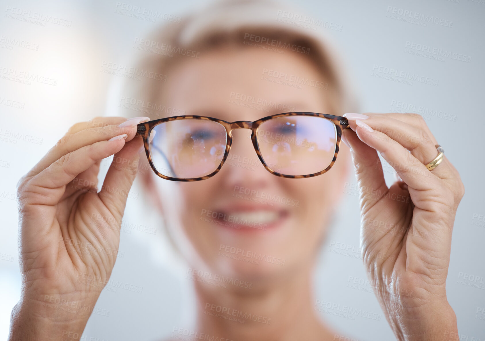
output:
M362 142L355 131L344 129L342 135L351 147L359 186L360 210L365 214L380 199L380 195L388 191L381 160L377 151Z

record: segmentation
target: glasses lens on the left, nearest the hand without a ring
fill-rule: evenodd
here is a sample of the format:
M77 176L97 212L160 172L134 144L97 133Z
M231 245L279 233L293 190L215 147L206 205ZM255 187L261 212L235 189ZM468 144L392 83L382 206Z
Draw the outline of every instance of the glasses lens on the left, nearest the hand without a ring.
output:
M227 134L218 122L187 118L162 122L149 133L150 157L159 173L171 178L193 179L219 167Z

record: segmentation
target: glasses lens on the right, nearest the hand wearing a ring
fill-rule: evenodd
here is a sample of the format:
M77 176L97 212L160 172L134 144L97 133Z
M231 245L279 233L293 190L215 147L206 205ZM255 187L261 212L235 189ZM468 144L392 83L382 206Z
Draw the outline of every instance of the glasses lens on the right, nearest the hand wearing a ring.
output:
M318 116L282 116L258 127L257 141L267 166L283 175L310 175L333 160L337 144L335 124Z

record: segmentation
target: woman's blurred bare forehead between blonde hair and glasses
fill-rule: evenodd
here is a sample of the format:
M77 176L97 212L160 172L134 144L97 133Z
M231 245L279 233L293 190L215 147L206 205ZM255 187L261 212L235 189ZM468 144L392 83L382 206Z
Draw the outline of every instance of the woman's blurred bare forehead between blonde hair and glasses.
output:
M167 105L186 114L227 121L291 111L328 113L323 76L296 52L210 50L175 63L163 92Z

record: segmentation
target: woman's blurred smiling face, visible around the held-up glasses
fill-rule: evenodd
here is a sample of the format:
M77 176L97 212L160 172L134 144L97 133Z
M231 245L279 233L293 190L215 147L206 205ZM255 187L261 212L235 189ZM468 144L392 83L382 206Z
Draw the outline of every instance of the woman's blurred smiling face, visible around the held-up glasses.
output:
M274 76L282 73L290 80L286 84L275 82L280 78ZM168 75L163 98L167 106L183 109L187 115L229 122L291 111L334 114L326 90L298 88L291 82L293 76L325 83L306 57L296 52L212 50L177 63ZM171 196L157 195L162 197L163 214L178 216L197 251L200 259L189 260L194 267L203 260L206 268L200 270L214 275L274 282L312 264L343 192L348 149L341 145L338 161L323 175L284 179L262 167L250 135L247 129L233 130L230 154L215 176L174 186L181 205L164 205Z

